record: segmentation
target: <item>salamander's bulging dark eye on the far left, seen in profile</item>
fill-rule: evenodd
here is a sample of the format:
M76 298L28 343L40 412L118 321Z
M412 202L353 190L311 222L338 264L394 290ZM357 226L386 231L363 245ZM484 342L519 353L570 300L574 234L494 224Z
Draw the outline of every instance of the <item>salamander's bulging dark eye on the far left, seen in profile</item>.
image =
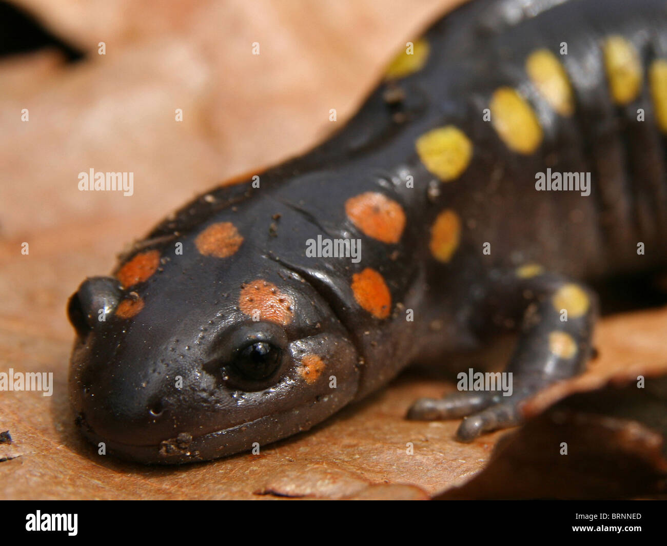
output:
M113 277L89 277L67 302L67 316L83 338L105 320L121 300L121 284Z

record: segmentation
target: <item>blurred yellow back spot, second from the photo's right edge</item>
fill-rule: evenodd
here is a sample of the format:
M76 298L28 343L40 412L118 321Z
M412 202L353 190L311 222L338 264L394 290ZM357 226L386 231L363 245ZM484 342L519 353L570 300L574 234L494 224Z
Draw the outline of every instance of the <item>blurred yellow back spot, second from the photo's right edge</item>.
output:
M604 41L604 67L616 104L636 99L642 88L642 61L634 45L622 36L610 36Z

